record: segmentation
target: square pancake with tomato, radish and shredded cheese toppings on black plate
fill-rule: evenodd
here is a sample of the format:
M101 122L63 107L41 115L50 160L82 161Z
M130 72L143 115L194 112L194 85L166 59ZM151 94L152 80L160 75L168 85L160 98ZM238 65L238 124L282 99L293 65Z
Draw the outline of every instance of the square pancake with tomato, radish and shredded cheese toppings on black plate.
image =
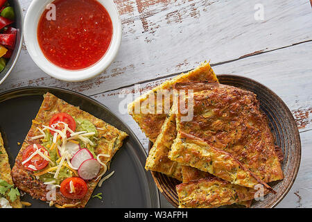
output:
M85 207L127 136L48 92L15 160L13 182L50 205Z

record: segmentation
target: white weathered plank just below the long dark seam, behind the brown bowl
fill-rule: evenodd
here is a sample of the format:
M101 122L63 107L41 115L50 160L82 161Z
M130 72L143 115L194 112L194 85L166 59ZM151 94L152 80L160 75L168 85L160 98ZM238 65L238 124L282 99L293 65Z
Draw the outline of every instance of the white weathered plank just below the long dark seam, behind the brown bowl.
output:
M312 130L311 48L312 42L306 42L217 65L213 69L216 74L234 74L252 78L272 89L288 105L300 132L303 132ZM138 92L147 92L166 79L168 78L143 83L139 85ZM135 97L135 86L96 94L92 97L107 105L117 116L128 123L147 150L148 139L141 133L139 126L126 110L126 104Z

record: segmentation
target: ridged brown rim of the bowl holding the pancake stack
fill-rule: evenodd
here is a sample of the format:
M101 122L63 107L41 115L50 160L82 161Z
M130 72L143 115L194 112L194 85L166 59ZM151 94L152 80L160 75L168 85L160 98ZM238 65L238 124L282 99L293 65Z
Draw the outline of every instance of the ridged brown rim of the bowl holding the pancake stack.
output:
M291 182L289 183L287 189L284 191L283 194L281 194L281 196L279 196L279 198L277 199L277 201L275 201L275 203L273 203L272 205L270 205L270 208L274 208L276 207L280 202L281 200L284 199L284 197L288 194L288 192L291 190L291 187L293 187L293 183L295 182L296 178L297 178L297 174L298 174L298 171L300 169L300 165L301 165L301 158L302 158L302 144L301 144L301 138L300 138L300 132L299 132L299 129L297 128L297 123L295 122L295 118L293 117L293 114L291 113L291 110L288 108L288 106L286 105L286 103L281 99L281 97L279 95L277 95L274 91L272 91L272 89L270 89L269 87L266 87L266 85L263 85L262 83L259 83L259 81L257 80L254 80L252 78L248 78L248 77L245 77L245 76L241 76L241 75L234 75L234 74L216 74L216 76L219 78L219 77L229 77L229 78L240 78L240 79L243 79L243 80L247 80L247 81L250 81L250 82L253 82L253 83L256 83L257 85L259 85L260 87L262 87L263 89L266 89L268 92L272 93L276 99L281 103L281 105L284 106L284 109L286 110L286 112L288 112L288 114L291 114L290 117L291 117L291 124L293 126L295 126L293 129L295 130L295 137L297 139L297 142L298 142L298 162L297 162L297 166L295 168L295 171L294 171L294 174L293 174L293 178L291 178ZM224 84L224 83L220 83L220 84ZM226 85L226 84L224 84ZM150 151L150 148L153 146L153 142L151 142L149 139L148 139L148 152ZM153 175L153 179L155 181L155 178L157 178L156 174L155 173L158 173L156 171L150 171L150 173ZM164 175L166 176L166 175ZM168 176L167 176L168 177ZM158 184L159 184L159 181L155 181L155 184L157 185L158 187ZM159 189L159 187L158 187ZM159 192L166 198L166 200L168 200L169 203L171 203L171 205L173 205L173 207L177 207L175 205L175 203L173 202L173 200L171 200L167 195L164 195L163 192L162 192L162 189L159 189Z

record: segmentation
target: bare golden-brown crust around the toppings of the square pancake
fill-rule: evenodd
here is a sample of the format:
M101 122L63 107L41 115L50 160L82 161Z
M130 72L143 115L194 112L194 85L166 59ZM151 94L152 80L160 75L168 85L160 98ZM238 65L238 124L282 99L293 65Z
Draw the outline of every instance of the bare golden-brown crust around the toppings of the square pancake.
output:
M41 180L37 180L35 176L33 176L33 172L28 171L24 168L24 166L21 164L22 153L24 149L31 144L41 144L40 139L32 140L31 137L34 137L38 134L36 130L37 127L42 128L42 125L49 126L49 120L51 119L51 117L53 117L54 114L58 112L66 112L74 118L87 119L92 122L94 126L96 126L96 128L103 129L98 130L99 139L98 146L96 146L95 149L95 153L96 155L98 155L99 153L110 155L109 158L101 158L102 162L107 165L110 164L113 155L122 146L123 139L128 136L126 133L114 128L114 126L111 126L108 123L105 123L105 121L94 117L92 114L89 114L83 110L80 110L78 107L70 105L69 103L62 101L61 99L58 99L53 94L50 94L49 92L45 94L44 101L42 102L40 110L35 117L35 121L33 121L31 129L26 135L26 139L21 146L19 154L17 155L17 158L15 160L15 166L13 167L11 173L15 185L19 189L26 191L26 193L33 196L33 198L44 201L46 201L46 194L49 192L49 190L46 189L47 185L44 185ZM79 203L76 207L85 207L97 184L98 180L90 180L89 182L87 182L87 185L89 187L87 194L84 198L78 200L65 198L64 196L62 196L62 194L60 194L59 189L57 189L56 201L54 201L54 203L58 205Z

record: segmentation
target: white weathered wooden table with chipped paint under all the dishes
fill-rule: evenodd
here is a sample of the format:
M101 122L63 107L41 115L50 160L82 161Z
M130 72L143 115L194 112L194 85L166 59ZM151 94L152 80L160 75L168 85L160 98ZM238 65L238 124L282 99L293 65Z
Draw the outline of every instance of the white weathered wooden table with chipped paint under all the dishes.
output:
M248 76L281 99L297 121L302 162L277 207L312 207L312 10L309 0L114 0L123 24L119 55L100 76L66 83L44 74L24 46L0 92L21 86L72 89L117 114L147 149L126 113L136 84L146 92L210 60L216 74ZM24 13L31 0L20 0ZM263 12L263 13L261 13ZM162 207L171 205L162 198Z

